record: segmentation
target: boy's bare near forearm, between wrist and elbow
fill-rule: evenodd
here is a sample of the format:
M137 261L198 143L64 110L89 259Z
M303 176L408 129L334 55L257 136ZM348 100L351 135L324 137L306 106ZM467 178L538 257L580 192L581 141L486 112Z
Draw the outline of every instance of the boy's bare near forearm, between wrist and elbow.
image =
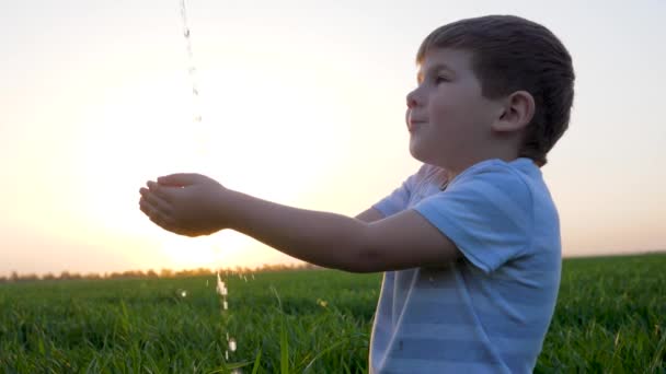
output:
M335 213L282 206L229 191L229 227L319 266L364 271L368 224Z

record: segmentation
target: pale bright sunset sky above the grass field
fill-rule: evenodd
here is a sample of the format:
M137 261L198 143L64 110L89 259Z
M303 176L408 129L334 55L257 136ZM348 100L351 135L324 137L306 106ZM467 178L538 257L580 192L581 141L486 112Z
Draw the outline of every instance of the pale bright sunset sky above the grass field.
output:
M179 0L2 0L0 276L297 262L234 232L162 231L138 189L196 172L355 215L420 165L418 45L486 14L546 25L574 60L571 126L542 168L564 256L666 249L663 0L190 0L193 60Z

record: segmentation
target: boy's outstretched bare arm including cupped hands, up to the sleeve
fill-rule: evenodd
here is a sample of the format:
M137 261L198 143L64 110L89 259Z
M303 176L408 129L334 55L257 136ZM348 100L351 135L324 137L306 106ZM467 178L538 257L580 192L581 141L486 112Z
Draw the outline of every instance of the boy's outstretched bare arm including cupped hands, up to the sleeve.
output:
M455 259L451 241L421 214L407 210L387 219L353 219L297 209L225 189L200 175L161 179L141 189L141 210L165 230L197 236L222 229L250 235L289 256L355 272L438 266ZM377 212L379 213L379 212ZM372 215L372 217L370 217Z

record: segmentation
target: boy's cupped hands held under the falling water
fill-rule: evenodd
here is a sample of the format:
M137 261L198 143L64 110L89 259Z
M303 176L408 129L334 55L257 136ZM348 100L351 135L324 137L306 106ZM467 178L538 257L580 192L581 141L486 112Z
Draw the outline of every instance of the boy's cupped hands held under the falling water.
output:
M186 236L209 235L226 229L227 189L200 174L172 174L149 180L139 189L141 211L160 227Z

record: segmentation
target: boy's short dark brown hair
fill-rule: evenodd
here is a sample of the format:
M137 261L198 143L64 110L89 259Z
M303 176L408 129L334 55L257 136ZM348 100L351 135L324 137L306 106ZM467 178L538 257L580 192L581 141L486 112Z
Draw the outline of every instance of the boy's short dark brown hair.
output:
M423 40L416 62L432 48L472 52L482 94L498 98L524 90L535 98L519 156L546 164L546 154L569 127L574 70L562 43L544 26L514 15L487 15L444 25Z

